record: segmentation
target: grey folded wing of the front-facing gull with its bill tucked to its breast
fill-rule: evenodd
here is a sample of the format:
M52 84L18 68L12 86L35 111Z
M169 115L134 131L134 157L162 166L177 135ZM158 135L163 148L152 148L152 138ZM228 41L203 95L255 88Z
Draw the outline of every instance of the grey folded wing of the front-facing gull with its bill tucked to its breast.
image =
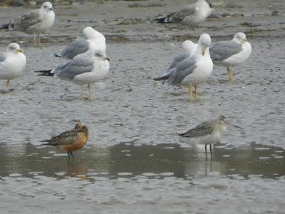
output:
M195 59L195 57L188 57L180 62L179 65L174 68L175 71L172 72L167 82L172 85L180 85L183 79L193 73L197 67Z

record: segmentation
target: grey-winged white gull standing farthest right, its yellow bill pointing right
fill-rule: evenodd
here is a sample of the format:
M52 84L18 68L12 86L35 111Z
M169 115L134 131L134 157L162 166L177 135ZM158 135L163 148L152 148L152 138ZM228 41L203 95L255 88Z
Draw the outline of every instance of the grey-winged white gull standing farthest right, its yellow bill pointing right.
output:
M215 65L227 67L229 81L232 81L232 67L239 66L252 54L252 46L244 33L237 33L230 41L219 41L209 48Z

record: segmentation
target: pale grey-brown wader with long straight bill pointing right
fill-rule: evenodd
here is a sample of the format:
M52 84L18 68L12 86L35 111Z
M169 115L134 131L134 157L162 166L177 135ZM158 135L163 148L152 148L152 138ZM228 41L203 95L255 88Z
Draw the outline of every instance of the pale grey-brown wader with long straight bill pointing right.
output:
M224 133L227 131L226 125L244 129L239 126L232 125L231 123L226 121L225 116L221 115L213 121L206 121L200 123L195 128L192 128L185 133L180 133L179 136L185 138L197 139L199 143L204 143L206 157L207 157L207 145L209 144L209 150L211 152L211 157L212 157L212 144L219 143L222 140L222 136L224 136Z

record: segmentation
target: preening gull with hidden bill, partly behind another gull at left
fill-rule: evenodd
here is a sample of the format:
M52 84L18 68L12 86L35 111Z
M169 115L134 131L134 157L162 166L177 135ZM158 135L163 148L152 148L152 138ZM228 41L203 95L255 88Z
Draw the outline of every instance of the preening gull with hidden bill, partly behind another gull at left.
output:
M83 34L86 35L87 39L76 39L63 50L51 56L73 59L78 54L83 54L90 49L106 50L105 36L103 34L90 26L83 29Z

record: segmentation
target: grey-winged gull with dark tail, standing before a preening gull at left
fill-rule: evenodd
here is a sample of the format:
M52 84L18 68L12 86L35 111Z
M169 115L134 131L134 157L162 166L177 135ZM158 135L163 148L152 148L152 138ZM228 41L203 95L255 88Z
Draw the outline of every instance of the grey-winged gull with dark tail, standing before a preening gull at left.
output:
M84 99L84 86L88 85L89 96L91 98L91 84L100 81L109 71L110 58L105 55L102 49L89 50L84 54L79 54L67 63L62 63L50 70L35 71L39 76L56 76L65 81L82 86L82 98Z

